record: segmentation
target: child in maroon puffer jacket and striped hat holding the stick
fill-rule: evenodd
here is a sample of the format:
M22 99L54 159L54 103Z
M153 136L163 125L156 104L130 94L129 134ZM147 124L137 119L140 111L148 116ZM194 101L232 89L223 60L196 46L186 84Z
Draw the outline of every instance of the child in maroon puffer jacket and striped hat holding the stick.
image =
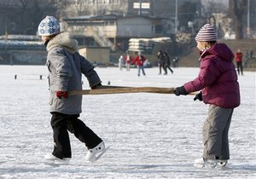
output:
M204 151L195 159L195 167L224 166L230 159L228 133L235 107L240 105L234 55L224 43L217 43L217 35L210 24L201 27L195 37L201 63L198 77L177 87L175 95L200 91L194 101L208 104L208 117L203 125Z

